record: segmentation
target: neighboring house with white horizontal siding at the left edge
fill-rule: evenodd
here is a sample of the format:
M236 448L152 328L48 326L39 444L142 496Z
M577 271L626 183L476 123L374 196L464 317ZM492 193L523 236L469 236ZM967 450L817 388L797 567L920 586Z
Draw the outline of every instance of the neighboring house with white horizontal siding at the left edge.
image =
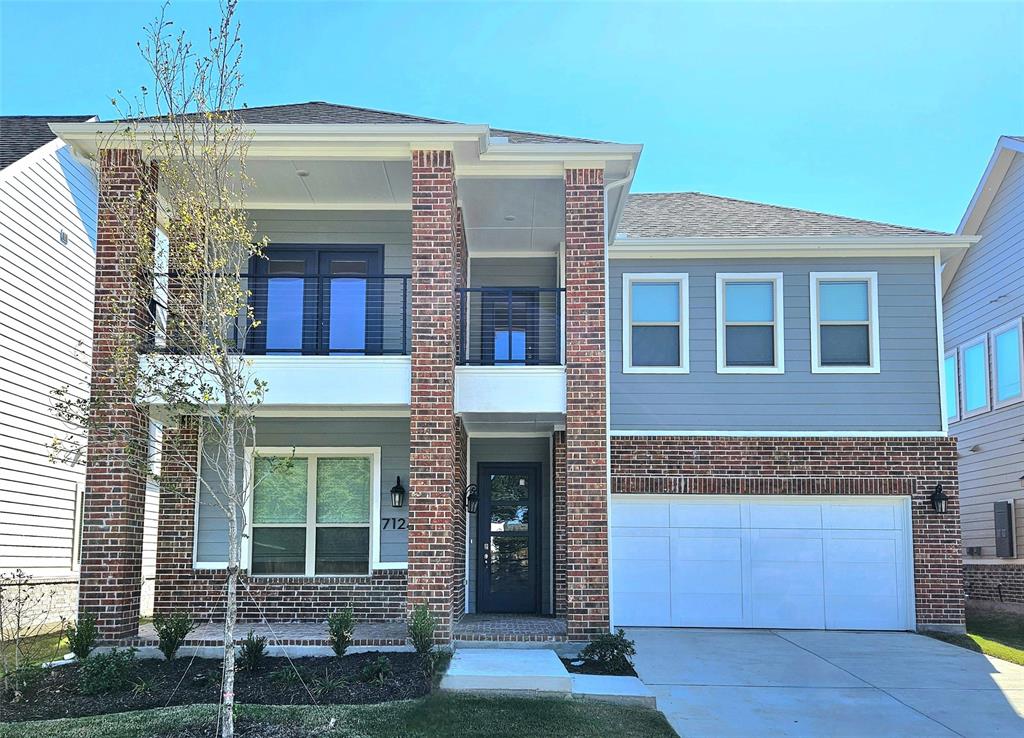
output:
M50 462L51 393L88 395L96 185L49 123L87 120L0 117L0 572L52 593L54 620L75 612L85 459Z

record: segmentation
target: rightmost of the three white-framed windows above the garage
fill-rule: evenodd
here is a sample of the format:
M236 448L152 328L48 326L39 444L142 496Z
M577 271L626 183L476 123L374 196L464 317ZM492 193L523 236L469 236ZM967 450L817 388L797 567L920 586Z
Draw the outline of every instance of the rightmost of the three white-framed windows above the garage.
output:
M879 277L873 271L812 271L811 371L877 374Z

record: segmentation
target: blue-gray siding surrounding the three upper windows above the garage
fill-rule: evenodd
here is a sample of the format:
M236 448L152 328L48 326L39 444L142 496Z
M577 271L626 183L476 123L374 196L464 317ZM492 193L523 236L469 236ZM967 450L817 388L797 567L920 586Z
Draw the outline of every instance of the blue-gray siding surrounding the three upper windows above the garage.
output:
M720 375L715 275L783 273L784 375ZM879 274L881 373L816 375L810 272ZM690 373L623 373L623 274L684 272ZM931 257L614 260L610 266L611 428L657 431L939 431L935 268Z

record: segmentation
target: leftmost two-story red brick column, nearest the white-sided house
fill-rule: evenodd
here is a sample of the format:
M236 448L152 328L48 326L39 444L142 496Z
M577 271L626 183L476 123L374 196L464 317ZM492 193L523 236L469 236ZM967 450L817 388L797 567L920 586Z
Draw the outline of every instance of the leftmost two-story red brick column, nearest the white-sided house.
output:
M104 641L138 632L148 418L132 402L125 372L138 360L146 324L135 226L152 222L156 167L129 149L99 153L92 424L82 520L79 608L96 615Z

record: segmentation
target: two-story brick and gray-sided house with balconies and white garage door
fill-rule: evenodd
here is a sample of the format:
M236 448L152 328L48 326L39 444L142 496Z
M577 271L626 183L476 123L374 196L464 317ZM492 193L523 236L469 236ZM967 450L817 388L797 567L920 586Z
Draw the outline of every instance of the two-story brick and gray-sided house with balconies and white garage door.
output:
M273 475L244 620L426 604L444 640L963 630L939 277L970 238L630 194L638 145L323 102L239 116L270 243L248 277L269 390L246 473ZM103 202L142 186L115 166L139 153L96 151L114 128L54 126ZM105 210L96 288L117 291L137 276ZM104 304L97 346L138 330ZM112 640L138 627L132 440L93 449L85 493L80 601ZM170 448L216 480L201 426L167 430L163 469L200 487ZM158 612L220 615L225 525L203 502L161 500Z

